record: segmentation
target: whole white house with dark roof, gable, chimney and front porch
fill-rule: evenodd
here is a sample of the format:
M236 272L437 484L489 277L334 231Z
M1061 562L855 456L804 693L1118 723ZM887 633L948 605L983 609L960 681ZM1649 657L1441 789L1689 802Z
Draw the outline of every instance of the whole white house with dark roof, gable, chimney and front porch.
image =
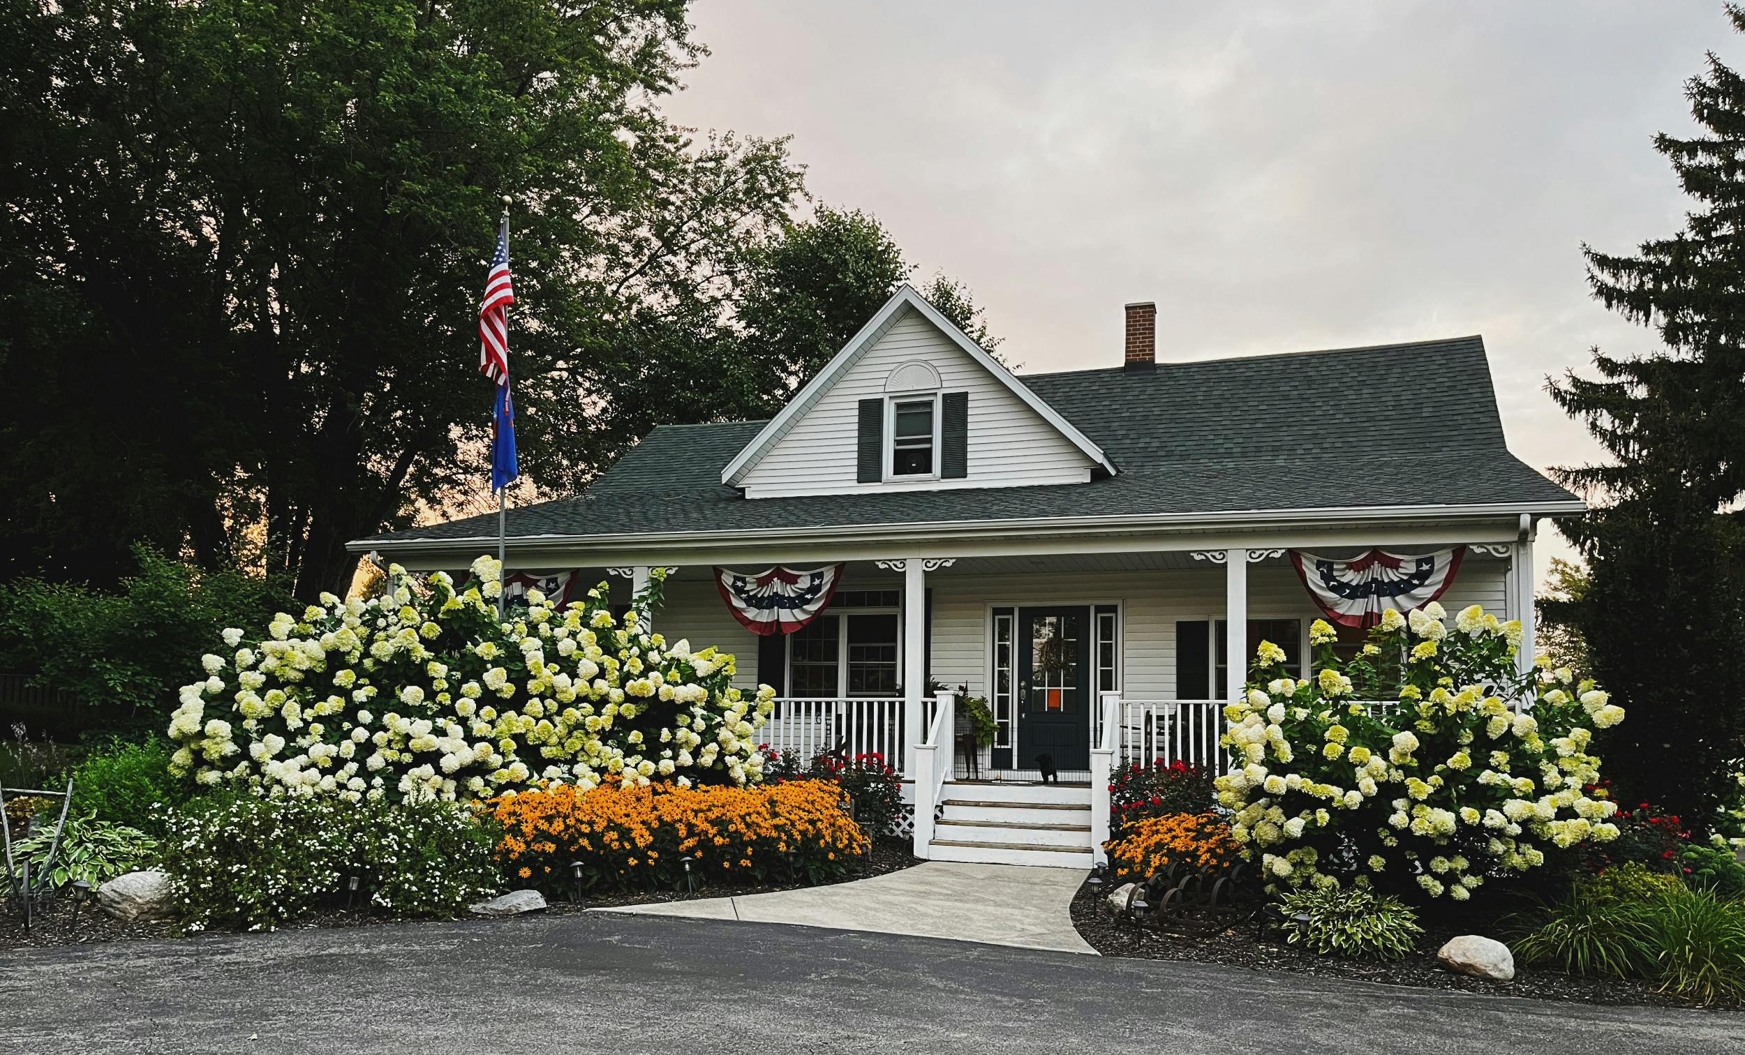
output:
M1108 767L1211 762L1258 642L1300 664L1319 616L1478 602L1532 654L1536 523L1583 504L1509 453L1478 337L1157 363L1153 333L1131 303L1120 364L1016 377L904 288L775 419L658 427L511 509L508 570L628 602L667 568L658 630L777 687L773 746L900 764L942 860L1089 867ZM351 548L496 542L492 514Z

